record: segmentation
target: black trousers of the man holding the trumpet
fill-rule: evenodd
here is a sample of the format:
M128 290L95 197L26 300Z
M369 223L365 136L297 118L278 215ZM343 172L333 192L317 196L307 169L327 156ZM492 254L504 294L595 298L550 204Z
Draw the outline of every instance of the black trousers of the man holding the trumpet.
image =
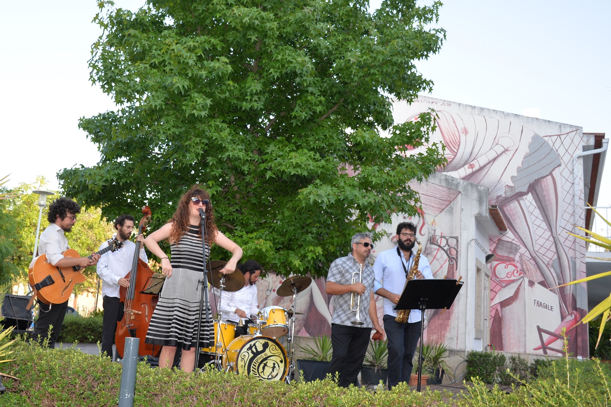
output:
M331 375L339 373L339 386L348 387L351 383L359 386L357 376L363 366L370 334L371 328L331 324L333 358L329 364L329 372Z

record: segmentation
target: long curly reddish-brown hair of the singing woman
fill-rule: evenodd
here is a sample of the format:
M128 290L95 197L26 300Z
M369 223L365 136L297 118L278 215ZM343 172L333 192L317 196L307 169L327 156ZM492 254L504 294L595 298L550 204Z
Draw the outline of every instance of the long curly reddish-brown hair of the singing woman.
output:
M178 242L181 237L189 230L189 205L191 205L191 198L196 197L200 200L208 200L206 206L206 243L211 245L216 240L216 234L219 229L214 223L214 209L210 203L210 194L207 190L200 188L199 185L193 185L183 196L181 196L178 202L176 212L172 215L172 218L167 223L172 222L172 231L170 232L170 241ZM201 234L201 229L197 229L197 234Z

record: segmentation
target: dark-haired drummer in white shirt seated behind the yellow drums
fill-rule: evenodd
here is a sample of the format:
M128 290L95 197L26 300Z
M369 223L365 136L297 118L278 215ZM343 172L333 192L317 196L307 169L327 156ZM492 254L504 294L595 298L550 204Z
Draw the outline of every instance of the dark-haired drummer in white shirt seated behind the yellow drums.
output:
M252 317L259 312L255 283L261 275L261 265L251 259L238 264L238 269L244 275L244 287L238 291L224 292L220 308L222 321L236 324L236 337L248 334L248 324L253 323Z

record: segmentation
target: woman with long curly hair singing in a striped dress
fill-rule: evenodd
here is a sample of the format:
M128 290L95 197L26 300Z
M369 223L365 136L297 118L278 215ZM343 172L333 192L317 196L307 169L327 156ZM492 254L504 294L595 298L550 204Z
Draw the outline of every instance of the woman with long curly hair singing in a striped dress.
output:
M202 295L199 281L203 279L204 268L199 215L202 207L206 214L206 256L210 254L212 243L229 250L232 258L221 273L233 273L242 257L242 249L216 228L210 195L197 185L180 198L172 219L144 239L148 250L161 259L161 272L167 276L148 327L146 342L163 346L159 367L172 367L176 349L180 347L180 369L186 372L194 369L196 350L210 347L209 338L213 333L212 320L203 321L200 343L196 344ZM171 262L158 245L164 239L170 242ZM206 306L209 308L210 304Z

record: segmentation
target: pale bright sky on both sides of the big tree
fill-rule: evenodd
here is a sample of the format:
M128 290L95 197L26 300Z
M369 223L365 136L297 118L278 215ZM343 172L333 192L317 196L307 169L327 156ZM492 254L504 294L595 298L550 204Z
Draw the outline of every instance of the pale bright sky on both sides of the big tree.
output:
M144 0L116 0L136 10ZM380 1L371 1L372 9ZM89 81L90 46L100 35L93 0L4 2L0 16L0 178L15 187L57 171L95 165L97 146L80 117L114 109ZM448 0L439 54L417 63L434 98L582 126L611 137L611 1ZM602 182L611 180L611 159ZM598 206L611 206L602 189Z

